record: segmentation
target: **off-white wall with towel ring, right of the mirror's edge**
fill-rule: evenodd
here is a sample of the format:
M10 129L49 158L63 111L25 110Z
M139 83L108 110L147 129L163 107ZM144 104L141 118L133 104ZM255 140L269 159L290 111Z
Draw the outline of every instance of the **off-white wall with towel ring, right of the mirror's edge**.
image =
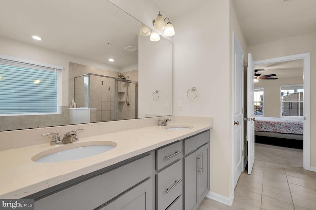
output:
M213 117L210 190L231 193L229 0L209 0L173 21L174 115ZM196 87L196 99L187 91ZM183 109L178 109L178 102Z

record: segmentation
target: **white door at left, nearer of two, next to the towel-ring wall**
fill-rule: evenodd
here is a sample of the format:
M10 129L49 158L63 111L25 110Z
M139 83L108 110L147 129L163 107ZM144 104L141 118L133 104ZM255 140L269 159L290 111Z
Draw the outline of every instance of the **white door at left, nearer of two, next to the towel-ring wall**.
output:
M243 166L243 50L233 34L233 109L234 109L234 139L233 139L233 163L234 163L234 188L244 169Z

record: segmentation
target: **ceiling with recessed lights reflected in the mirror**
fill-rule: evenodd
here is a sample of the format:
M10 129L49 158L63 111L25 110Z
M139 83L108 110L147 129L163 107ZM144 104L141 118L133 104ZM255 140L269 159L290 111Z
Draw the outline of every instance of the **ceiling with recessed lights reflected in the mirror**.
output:
M107 0L0 0L0 36L118 68L138 63L140 26Z

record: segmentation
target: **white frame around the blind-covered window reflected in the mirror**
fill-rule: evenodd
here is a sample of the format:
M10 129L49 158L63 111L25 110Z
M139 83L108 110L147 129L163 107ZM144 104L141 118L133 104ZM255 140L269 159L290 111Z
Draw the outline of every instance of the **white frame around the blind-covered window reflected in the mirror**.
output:
M56 112L47 112L47 113L8 113L8 114L0 114L0 116L29 116L29 115L52 115L52 114L61 114L61 70L64 69L62 66L42 63L38 61L32 61L23 58L17 58L13 56L0 55L0 59L18 62L21 64L32 65L34 67L44 67L47 68L47 71L55 71L56 72L56 87L57 87L57 111ZM51 69L51 70L48 70Z

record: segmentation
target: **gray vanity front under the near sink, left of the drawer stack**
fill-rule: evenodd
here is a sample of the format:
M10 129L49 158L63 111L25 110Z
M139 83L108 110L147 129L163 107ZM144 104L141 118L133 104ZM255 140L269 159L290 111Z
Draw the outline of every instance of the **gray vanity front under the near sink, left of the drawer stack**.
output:
M151 210L154 207L154 162L152 152L116 165L101 175L92 175L37 200L35 210L103 210L107 204L110 209L117 209L118 204L126 204L126 207L135 205L133 198L146 203L143 207Z

